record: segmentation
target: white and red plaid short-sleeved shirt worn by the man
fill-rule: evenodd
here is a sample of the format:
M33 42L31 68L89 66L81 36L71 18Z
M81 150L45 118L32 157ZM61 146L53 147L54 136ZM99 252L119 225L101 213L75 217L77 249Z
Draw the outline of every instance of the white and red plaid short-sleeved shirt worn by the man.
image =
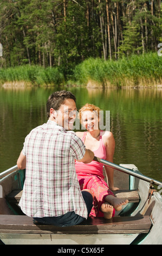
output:
M85 145L74 131L65 131L54 121L36 127L25 138L27 157L20 206L30 217L52 217L75 211L87 218L75 171L75 159L85 155Z

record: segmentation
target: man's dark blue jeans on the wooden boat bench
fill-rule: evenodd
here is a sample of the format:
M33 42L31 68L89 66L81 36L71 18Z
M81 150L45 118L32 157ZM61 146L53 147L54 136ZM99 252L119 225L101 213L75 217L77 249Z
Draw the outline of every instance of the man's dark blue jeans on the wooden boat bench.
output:
M85 200L88 216L93 206L93 197L87 191L82 191L83 199ZM85 218L75 214L74 211L67 212L64 215L57 216L57 217L43 217L43 218L34 218L35 221L47 224L47 225L56 225L59 227L66 227L80 224L82 221L86 220Z

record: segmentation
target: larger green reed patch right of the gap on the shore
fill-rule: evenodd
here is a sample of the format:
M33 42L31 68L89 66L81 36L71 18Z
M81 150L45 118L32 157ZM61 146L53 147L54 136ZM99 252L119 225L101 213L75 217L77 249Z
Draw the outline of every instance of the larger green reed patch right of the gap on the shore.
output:
M80 84L93 81L105 87L146 87L162 82L161 70L162 57L147 53L118 61L89 58L76 66L74 74Z

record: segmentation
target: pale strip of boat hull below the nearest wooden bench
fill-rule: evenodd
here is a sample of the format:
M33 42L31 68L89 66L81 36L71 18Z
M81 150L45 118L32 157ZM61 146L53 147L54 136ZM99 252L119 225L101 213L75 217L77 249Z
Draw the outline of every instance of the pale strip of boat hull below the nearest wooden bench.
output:
M55 235L0 234L5 245L129 245L138 234Z

